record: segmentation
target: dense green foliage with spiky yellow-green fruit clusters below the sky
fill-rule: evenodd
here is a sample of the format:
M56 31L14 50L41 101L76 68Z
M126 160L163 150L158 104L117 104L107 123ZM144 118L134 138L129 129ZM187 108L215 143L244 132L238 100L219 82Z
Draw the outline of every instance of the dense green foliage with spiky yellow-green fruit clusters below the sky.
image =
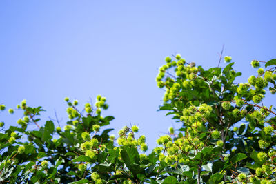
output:
M156 78L166 90L159 110L183 125L170 127L149 154L136 125L117 136L103 130L114 119L101 115L108 109L103 96L82 111L66 98L63 128L50 120L41 126L43 109L23 100L18 125L0 123L1 183L276 183L276 113L262 102L266 89L276 92L276 59L252 61L266 69L239 84L242 73L233 70L231 57L224 57L224 68L208 70L179 54L165 60Z

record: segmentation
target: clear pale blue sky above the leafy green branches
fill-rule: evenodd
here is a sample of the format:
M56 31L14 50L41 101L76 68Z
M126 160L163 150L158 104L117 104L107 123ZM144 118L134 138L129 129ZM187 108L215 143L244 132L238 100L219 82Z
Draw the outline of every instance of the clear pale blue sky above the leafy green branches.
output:
M27 99L66 123L64 97L80 105L107 97L117 133L139 125L150 148L168 127L157 112L155 76L164 57L180 53L204 68L231 55L245 81L252 59L276 58L275 1L0 1L0 103ZM223 65L222 65L223 66ZM21 112L1 112L16 125ZM42 122L41 122L42 123Z

